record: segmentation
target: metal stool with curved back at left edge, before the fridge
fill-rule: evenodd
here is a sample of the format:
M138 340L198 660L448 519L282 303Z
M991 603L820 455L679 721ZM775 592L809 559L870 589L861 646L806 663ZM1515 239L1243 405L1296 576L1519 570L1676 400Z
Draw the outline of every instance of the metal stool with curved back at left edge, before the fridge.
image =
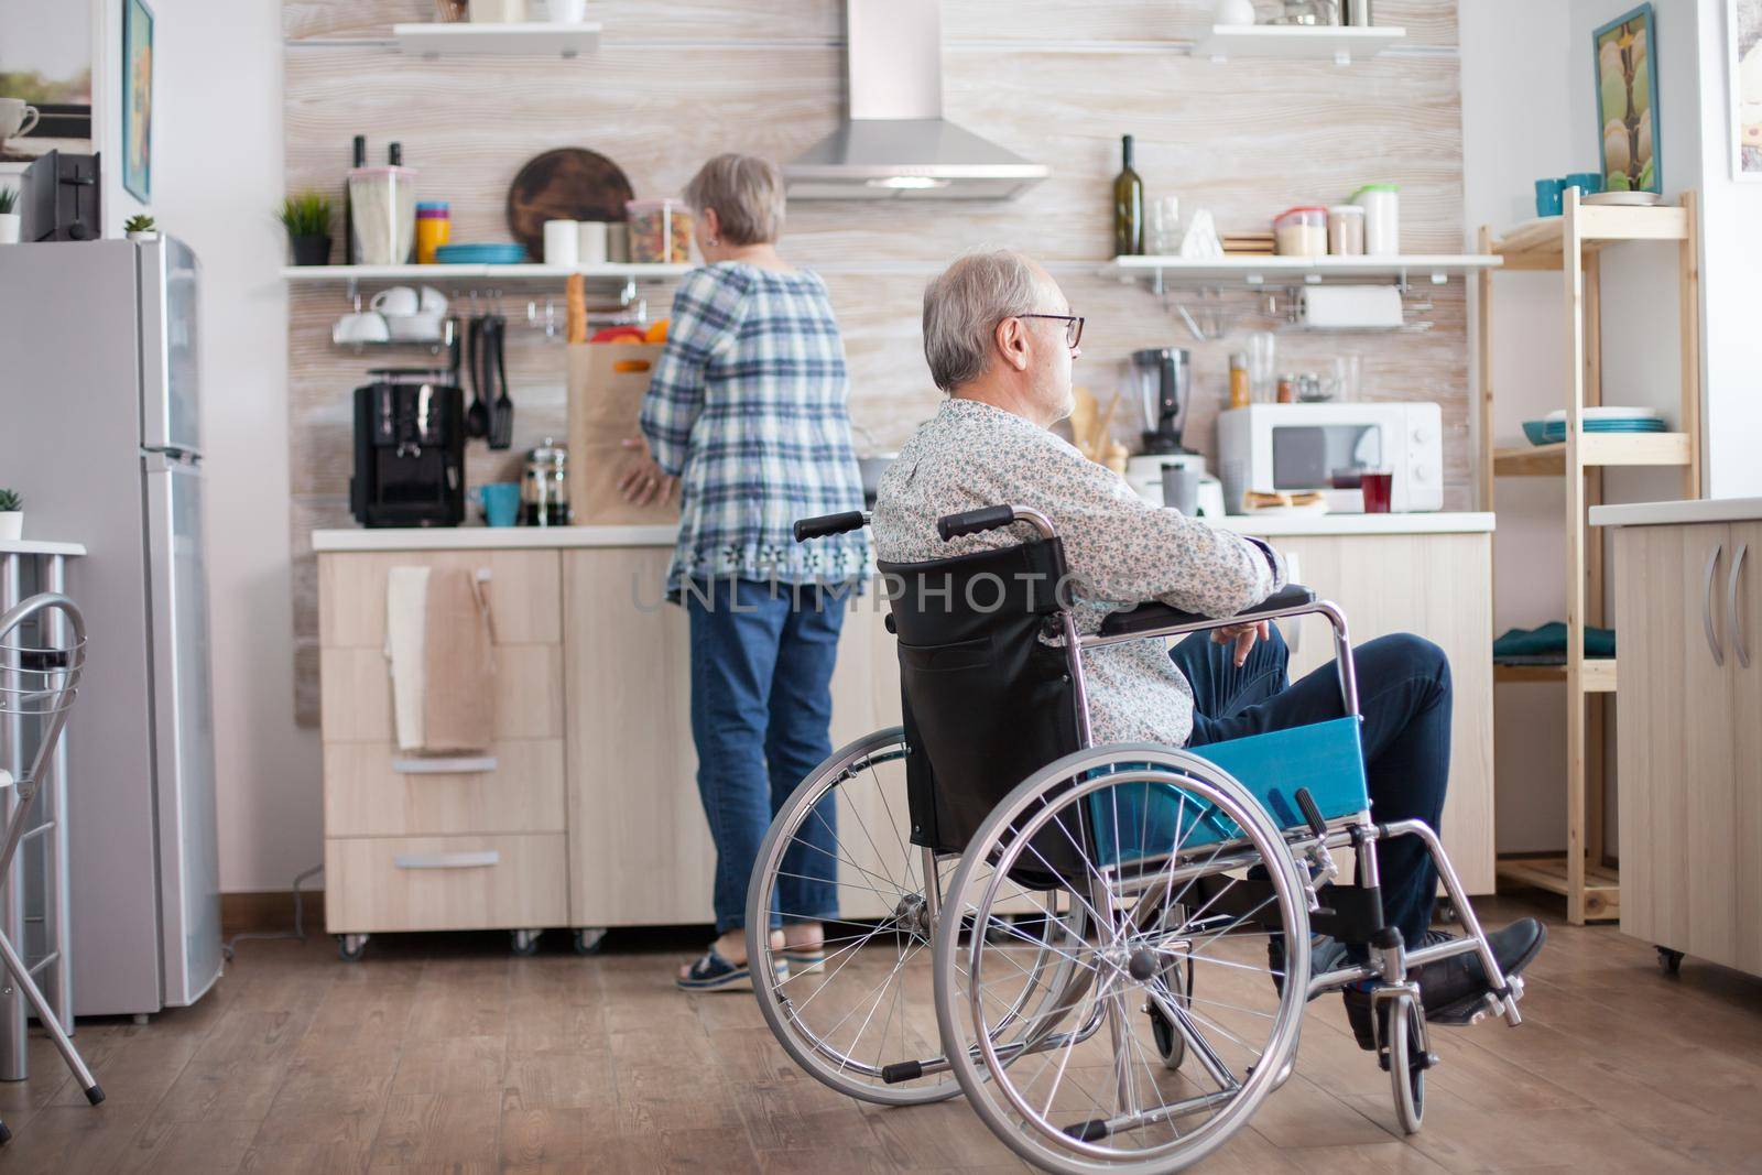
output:
M49 639L49 620L60 622L53 629L65 638L63 641ZM18 854L19 844L35 831L49 828L39 824L37 830L32 830L30 809L48 780L49 765L55 763L62 729L67 726L67 712L79 694L79 673L85 662L86 624L79 608L65 595L42 592L0 615L0 712L9 719L9 729L23 731L26 724L33 724L37 731L35 752L25 765L25 773L14 779L11 772L0 768L0 793L12 791L5 831L0 833L4 837L0 840L0 886L11 877L12 858ZM60 946L56 944L56 948ZM5 965L11 981L37 1011L37 1020L55 1041L55 1048L85 1090L86 1101L92 1105L104 1101L104 1090L99 1089L92 1071L79 1059L74 1043L67 1039L49 1001L37 990L32 969L19 958L18 950L4 932L0 932L0 964ZM12 1131L0 1122L0 1142L11 1136Z

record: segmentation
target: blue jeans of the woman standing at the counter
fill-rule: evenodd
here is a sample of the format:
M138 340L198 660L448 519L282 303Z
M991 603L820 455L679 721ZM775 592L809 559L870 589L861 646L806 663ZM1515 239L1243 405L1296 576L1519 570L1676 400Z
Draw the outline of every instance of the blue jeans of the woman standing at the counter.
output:
M848 599L812 585L715 580L684 592L691 615L691 736L715 840L715 932L747 921L759 842L832 740L832 666ZM837 918L837 802L826 796L782 858L779 914Z

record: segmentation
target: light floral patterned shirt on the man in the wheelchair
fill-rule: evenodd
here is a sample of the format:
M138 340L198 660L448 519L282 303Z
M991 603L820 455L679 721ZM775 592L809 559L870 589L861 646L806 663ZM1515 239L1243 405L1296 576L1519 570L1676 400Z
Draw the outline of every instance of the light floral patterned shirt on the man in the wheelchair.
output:
M881 476L872 532L886 562L925 562L1022 541L1006 527L943 543L936 520L980 506L1027 506L1064 539L1077 625L1161 601L1230 617L1284 587L1284 560L1265 543L1151 506L1126 479L1033 421L950 398ZM1186 745L1193 689L1165 641L1126 641L1084 655L1089 724L1099 742Z

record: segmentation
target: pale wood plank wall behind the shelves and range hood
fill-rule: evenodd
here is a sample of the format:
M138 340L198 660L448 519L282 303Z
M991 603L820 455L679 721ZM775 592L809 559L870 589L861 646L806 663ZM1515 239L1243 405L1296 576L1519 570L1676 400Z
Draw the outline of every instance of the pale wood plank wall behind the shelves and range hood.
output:
M1276 7L1260 0L1260 7ZM453 240L506 240L515 173L555 146L589 146L629 174L638 196L678 192L717 151L788 160L832 130L842 109L837 0L594 0L601 51L573 62L426 62L361 44L395 21L428 19L428 0L285 0L287 185L340 190L349 141L372 160L403 143L425 199L453 206ZM1181 51L1210 21L1210 0L944 0L944 104L951 120L1045 162L1052 178L1004 204L795 204L784 254L826 266L851 359L851 416L881 447L899 446L939 393L918 336L925 280L976 245L1010 245L1052 262L1089 317L1078 381L1103 402L1136 347L1189 347L1196 405L1189 444L1212 447L1228 356L1242 331L1270 326L1233 291L1235 335L1196 344L1147 291L1094 275L1110 252L1110 180L1119 136L1138 143L1151 196L1177 194L1182 215L1209 208L1225 229L1265 227L1297 203L1344 199L1362 181L1401 183L1404 252L1462 248L1462 136L1454 0L1380 0L1376 19L1408 28L1392 55L1325 62L1214 63ZM865 271L867 270L867 271ZM437 282L448 292L465 292ZM555 291L560 294L560 291ZM1325 370L1357 352L1367 398L1438 400L1445 416L1447 507L1471 497L1466 301L1461 280L1420 291L1436 324L1424 335L1279 336L1279 366ZM511 317L546 291L504 299ZM647 291L655 315L671 291ZM289 410L296 578L298 706L315 722L317 592L312 528L351 525L351 389L384 359L329 344L349 307L342 287L289 298ZM515 479L520 453L562 437L562 351L539 331L509 331L515 449L474 444L470 481ZM1131 439L1136 409L1115 430Z

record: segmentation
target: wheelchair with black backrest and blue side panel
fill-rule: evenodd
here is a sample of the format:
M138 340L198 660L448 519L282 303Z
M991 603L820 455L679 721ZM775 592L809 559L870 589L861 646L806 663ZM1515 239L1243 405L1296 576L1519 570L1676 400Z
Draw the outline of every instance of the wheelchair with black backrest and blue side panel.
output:
M867 521L811 518L795 537ZM1452 1009L1464 1024L1517 1025L1522 981L1438 835L1369 812L1344 615L1290 587L1226 618L1142 604L1084 636L1043 514L990 506L937 530L1015 525L1033 530L1020 544L877 567L902 726L833 752L759 847L747 958L770 1029L851 1097L966 1094L1034 1166L1151 1173L1223 1145L1292 1075L1304 1004L1360 985L1397 1120L1418 1131L1438 1057L1411 969L1478 955L1491 990ZM1089 650L1306 613L1334 629L1344 717L1195 749L1092 742ZM1388 837L1425 844L1462 937L1410 950L1383 923ZM823 921L823 948L774 944L791 914ZM1311 974L1313 934L1359 951Z

